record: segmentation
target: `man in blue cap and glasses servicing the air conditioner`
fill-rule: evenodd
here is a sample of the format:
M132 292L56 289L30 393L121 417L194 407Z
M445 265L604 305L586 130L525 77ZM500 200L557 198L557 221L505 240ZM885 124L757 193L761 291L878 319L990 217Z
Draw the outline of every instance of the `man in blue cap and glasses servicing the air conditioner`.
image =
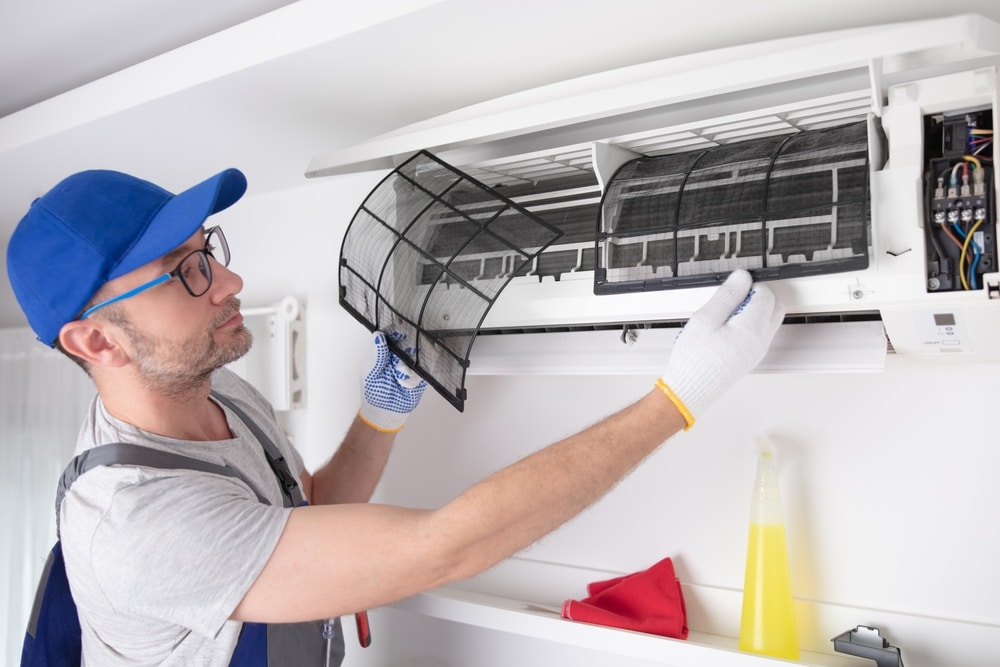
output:
M357 419L328 464L303 469L266 401L222 368L251 340L225 238L202 225L245 189L236 170L177 195L117 172L82 172L32 204L8 247L11 284L39 339L97 386L78 452L121 441L239 473L105 466L72 486L60 524L88 664L227 665L248 623L338 617L491 567L690 428L763 357L783 316L769 290L735 272L634 404L439 509L370 505L425 385L408 381L376 334ZM241 412L292 462L309 506L282 507ZM270 664L309 664L286 653L300 643L269 634Z

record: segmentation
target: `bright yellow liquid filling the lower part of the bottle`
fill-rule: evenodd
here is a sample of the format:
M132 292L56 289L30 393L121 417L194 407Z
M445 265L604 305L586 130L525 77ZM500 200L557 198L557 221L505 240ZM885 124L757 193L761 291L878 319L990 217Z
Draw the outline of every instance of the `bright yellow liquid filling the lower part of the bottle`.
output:
M799 659L784 524L750 524L739 647Z

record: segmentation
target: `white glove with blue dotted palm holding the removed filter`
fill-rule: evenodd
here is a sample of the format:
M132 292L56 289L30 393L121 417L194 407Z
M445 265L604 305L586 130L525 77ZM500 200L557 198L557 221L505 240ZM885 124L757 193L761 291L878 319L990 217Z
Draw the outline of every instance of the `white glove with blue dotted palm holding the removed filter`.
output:
M372 343L374 354L361 373L358 416L377 431L395 433L420 403L427 382L389 350L381 331L372 335Z

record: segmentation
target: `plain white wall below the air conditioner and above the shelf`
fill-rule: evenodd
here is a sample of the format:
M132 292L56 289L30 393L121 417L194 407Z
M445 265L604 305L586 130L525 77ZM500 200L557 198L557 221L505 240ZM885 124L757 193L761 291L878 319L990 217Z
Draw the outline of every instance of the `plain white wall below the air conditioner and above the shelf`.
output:
M742 588L752 438L766 431L781 462L796 597L869 609L858 623L903 612L996 632L1000 607L982 593L1000 591L1000 450L982 417L992 409L988 378L998 366L900 362L878 375L744 379L691 432L523 556L612 572L671 556L685 583ZM473 378L465 414L436 400L414 417L384 497L443 502L641 394L653 377ZM948 400L958 387L960 403ZM715 619L714 629L734 636L738 620ZM828 642L846 629L818 636ZM904 646L947 644L888 630ZM808 639L814 631L803 632Z

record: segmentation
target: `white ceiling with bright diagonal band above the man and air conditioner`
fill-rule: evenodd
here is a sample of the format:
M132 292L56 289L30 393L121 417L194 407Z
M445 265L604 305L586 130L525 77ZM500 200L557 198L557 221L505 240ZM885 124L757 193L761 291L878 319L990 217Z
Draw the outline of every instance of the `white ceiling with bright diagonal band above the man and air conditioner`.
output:
M252 192L314 155L471 103L735 44L996 0L11 0L0 3L0 236L82 169ZM6 247L6 242L4 243ZM5 256L6 253L4 253ZM3 271L6 275L6 269ZM0 326L24 324L6 280Z

